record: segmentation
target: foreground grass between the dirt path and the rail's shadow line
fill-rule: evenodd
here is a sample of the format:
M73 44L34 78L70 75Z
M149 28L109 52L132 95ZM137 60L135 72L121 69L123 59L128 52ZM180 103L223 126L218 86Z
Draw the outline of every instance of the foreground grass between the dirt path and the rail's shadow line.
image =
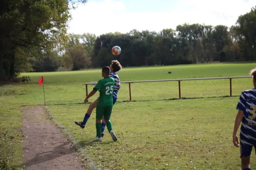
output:
M96 136L95 112L84 129L74 124L83 119L87 106L49 108L101 169L237 170L240 153L232 143L237 101L233 97L117 103L111 121L119 140L113 142L105 133L104 141L97 143L91 142Z

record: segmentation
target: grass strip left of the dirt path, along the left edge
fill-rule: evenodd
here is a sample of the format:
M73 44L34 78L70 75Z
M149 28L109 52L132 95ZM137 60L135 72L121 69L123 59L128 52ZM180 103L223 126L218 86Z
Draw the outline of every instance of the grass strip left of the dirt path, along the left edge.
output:
M0 162L10 167L22 164L20 105L13 101L21 89L8 85L0 88Z

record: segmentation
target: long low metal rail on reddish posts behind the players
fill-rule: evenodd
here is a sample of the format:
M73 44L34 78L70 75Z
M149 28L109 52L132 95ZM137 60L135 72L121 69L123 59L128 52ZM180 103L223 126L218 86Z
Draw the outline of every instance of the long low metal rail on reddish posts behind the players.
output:
M129 95L131 101L131 83L140 83L140 82L172 82L177 81L179 85L179 99L181 98L180 92L180 81L191 81L191 80L209 80L209 79L230 79L230 96L232 96L232 79L241 79L241 78L252 78L250 76L241 76L241 77L209 77L209 78L194 78L194 79L162 79L162 80L143 80L143 81L128 81L120 82L129 84ZM88 85L95 85L96 82L85 82L86 96L88 96Z

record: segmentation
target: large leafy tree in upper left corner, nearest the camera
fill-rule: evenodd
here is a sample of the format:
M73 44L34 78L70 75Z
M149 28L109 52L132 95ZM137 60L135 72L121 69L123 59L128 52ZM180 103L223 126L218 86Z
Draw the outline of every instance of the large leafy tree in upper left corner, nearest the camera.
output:
M85 0L4 0L0 2L0 81L18 74L16 57L23 51L51 49L66 41L70 6ZM42 50L42 49L41 49ZM8 65L8 67L4 66Z

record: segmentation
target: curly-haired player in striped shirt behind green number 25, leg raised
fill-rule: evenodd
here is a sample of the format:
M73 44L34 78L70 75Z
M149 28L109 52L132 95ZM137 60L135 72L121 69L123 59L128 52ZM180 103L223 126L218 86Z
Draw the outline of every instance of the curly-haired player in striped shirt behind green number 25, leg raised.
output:
M116 100L117 100L117 92L119 91L119 89L121 87L120 86L120 80L119 80L119 77L116 74L116 72L120 71L122 69L122 65L117 60L113 60L111 62L111 65L110 65L109 68L110 68L110 71L111 71L109 76L112 77L113 79L115 79L115 87L114 87L114 90L113 90L113 105L114 105ZM83 122L75 121L76 125L79 125L81 128L85 127L86 122L90 118L90 115L92 114L93 109L97 107L98 100L99 100L99 98L96 99L93 103L91 103L89 105L87 113L84 116L84 121ZM104 136L105 127L106 127L105 120L102 119L102 137Z

